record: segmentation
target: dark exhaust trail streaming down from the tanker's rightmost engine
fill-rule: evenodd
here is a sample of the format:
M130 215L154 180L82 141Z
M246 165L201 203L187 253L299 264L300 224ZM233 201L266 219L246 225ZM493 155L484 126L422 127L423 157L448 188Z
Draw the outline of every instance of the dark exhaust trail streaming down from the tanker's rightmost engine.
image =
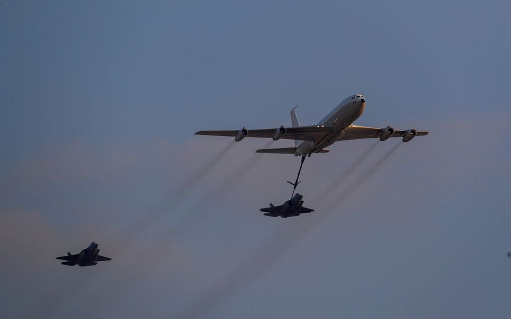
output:
M381 156L375 165L363 171L362 175L356 180L355 183L350 185L347 191L341 194L340 198L336 198L335 203L342 203L349 195L360 189L360 187L373 176L376 171L389 159L390 155L394 153L401 143L393 146L392 149L387 151ZM374 148L374 145L370 149ZM365 153L368 154L368 151ZM365 154L364 153L364 154ZM257 281L266 272L271 270L273 266L291 251L301 238L305 238L314 227L326 219L333 210L325 210L321 214L315 215L316 218L308 220L296 220L295 225L285 225L283 229L270 236L253 255L248 256L232 271L224 281L217 287L209 291L196 302L192 303L190 307L179 313L177 318L200 318L205 314L210 313L219 303L228 300L230 296L234 295L243 287L250 286L253 282Z

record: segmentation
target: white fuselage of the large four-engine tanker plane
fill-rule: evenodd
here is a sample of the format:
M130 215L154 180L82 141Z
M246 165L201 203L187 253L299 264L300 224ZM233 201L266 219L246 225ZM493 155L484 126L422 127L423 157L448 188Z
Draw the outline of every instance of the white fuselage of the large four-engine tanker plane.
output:
M318 126L331 127L332 130L313 142L302 141L297 145L294 155L310 156L312 153L317 153L323 148L332 145L346 132L346 129L362 115L364 108L365 97L363 95L354 94L346 97L346 99L339 103L317 124Z

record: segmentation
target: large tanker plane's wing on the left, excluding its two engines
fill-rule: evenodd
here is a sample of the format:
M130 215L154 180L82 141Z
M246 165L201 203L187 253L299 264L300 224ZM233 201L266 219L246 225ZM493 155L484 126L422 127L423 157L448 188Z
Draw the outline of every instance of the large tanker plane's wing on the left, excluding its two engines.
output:
M330 133L331 127L323 125L313 126L301 126L296 128L286 128L281 138L294 139L300 141L315 141L321 137L321 135ZM238 135L238 130L231 131L199 131L195 132L196 135L215 135L215 136L230 136L235 137ZM275 133L275 129L262 129L262 130L248 130L248 134L245 137L262 137L271 138Z

